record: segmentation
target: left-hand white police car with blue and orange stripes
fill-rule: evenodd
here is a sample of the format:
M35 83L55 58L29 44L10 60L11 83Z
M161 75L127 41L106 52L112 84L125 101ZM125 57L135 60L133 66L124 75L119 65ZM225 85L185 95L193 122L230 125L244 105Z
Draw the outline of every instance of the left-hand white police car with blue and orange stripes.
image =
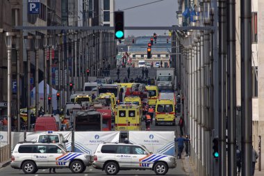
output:
M92 156L67 152L56 143L22 142L15 146L10 165L26 174L36 173L39 168L69 168L72 173L83 173L86 166L92 165Z

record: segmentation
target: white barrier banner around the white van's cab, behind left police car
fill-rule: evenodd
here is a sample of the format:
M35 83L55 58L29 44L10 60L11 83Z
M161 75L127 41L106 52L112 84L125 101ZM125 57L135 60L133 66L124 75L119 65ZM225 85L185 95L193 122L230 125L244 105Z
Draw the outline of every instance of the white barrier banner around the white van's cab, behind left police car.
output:
M36 131L36 132L26 132L26 141L37 141L38 135L47 134L47 131ZM71 143L72 143L72 131L53 131L54 134L63 134L63 137L68 140L66 145L66 149L71 151Z

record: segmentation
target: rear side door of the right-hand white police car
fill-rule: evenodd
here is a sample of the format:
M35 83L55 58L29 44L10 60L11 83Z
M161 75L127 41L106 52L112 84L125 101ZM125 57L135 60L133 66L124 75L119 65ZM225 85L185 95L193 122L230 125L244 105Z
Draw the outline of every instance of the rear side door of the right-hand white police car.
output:
M115 160L119 163L120 168L131 167L131 148L130 145L117 145Z

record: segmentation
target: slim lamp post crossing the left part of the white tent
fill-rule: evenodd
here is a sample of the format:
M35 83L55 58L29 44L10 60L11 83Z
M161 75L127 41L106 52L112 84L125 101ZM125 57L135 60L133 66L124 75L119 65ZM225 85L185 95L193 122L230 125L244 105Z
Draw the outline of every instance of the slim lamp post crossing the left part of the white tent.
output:
M39 104L39 98L38 98L38 49L40 49L40 35L35 35L35 117L38 117L38 104Z

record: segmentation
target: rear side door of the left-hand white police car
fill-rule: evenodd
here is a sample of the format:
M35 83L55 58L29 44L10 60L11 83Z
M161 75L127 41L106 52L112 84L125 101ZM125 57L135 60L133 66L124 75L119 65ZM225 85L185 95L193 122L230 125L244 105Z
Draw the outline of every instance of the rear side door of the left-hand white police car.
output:
M34 145L32 159L38 167L46 167L49 161L47 145Z

